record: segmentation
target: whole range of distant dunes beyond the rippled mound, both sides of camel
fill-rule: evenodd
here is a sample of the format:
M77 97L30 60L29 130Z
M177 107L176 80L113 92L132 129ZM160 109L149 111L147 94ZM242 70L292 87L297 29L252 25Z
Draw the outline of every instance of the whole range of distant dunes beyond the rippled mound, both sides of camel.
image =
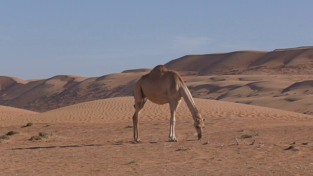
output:
M313 114L312 46L187 55L165 66L182 75L196 98ZM100 77L57 75L27 81L1 76L0 105L44 112L132 96L136 81L150 70L138 68Z

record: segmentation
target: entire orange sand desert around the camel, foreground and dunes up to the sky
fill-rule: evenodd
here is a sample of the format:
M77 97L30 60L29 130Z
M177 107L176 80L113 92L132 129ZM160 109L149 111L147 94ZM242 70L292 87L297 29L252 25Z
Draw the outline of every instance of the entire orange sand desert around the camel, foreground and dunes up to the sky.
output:
M168 142L169 105L147 102L141 142L132 142L133 86L150 68L0 76L0 136L19 132L0 139L0 176L313 174L313 47L188 55L165 66L206 118L201 140L185 102L178 142Z

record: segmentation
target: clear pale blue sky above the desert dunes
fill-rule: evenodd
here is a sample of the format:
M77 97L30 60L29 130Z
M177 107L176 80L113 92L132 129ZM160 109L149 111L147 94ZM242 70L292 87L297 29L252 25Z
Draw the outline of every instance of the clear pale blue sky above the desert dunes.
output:
M187 54L313 45L311 0L2 0L0 75L102 76Z

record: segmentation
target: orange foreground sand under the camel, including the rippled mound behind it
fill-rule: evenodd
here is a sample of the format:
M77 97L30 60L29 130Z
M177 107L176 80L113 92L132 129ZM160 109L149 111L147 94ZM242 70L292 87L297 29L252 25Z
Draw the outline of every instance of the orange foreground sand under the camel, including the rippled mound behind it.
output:
M214 100L195 103L207 119L201 140L184 102L177 112L178 142L167 141L168 105L148 102L139 118L142 142L137 144L127 128L133 97L27 116L11 110L15 114L2 118L0 135L20 133L0 143L0 175L312 175L313 116ZM22 128L30 121L34 125ZM29 140L39 132L53 134Z

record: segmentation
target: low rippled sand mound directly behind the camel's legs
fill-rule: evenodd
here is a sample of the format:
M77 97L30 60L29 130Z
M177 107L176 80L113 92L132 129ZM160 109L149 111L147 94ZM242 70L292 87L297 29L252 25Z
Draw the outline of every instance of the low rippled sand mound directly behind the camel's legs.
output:
M313 120L313 116L276 110L259 106L231 103L216 100L195 99L195 103L202 116L207 118L240 117L254 120L276 120L302 122ZM27 117L12 117L3 119L0 126L20 126L29 121L34 123L107 123L124 122L132 123L134 114L133 97L117 97L79 103L56 110L46 111ZM156 105L148 102L141 112L140 120L165 120L168 121L170 110L168 105ZM185 102L182 102L177 117L192 119Z

